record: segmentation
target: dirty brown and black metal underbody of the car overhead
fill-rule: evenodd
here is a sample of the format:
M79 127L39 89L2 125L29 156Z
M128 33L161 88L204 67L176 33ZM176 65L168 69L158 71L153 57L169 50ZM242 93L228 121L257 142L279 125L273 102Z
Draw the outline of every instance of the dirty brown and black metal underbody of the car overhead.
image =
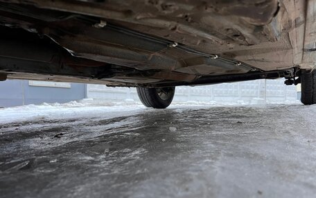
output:
M172 86L316 62L316 0L0 2L8 78Z

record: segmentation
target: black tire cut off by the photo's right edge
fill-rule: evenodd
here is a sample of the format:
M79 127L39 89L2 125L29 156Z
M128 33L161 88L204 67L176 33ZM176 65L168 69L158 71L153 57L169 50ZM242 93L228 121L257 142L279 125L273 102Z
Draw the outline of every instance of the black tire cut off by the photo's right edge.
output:
M305 105L316 103L316 70L301 72L301 103Z

